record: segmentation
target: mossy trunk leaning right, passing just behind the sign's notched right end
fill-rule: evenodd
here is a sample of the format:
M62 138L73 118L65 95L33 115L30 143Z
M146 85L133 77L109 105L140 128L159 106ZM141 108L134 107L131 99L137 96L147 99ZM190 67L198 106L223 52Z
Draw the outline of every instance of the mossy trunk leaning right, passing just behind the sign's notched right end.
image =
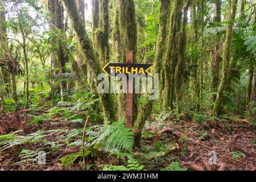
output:
M158 42L156 43L156 54L154 63L155 73L163 72L163 49L165 49L165 40L166 40L166 24L168 21L168 14L170 14L170 0L161 0L159 8L159 31L158 31ZM147 97L147 96L146 96ZM155 100L145 99L146 103L139 108L137 119L134 123L134 129L137 131L134 138L134 146L139 147L141 145L141 134L146 120L150 117L152 112L152 106Z

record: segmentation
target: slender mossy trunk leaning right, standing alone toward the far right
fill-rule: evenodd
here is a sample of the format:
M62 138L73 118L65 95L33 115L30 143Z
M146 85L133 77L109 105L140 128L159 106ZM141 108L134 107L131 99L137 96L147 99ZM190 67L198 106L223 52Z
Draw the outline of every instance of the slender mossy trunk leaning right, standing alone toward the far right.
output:
M218 87L216 101L213 107L214 115L222 114L224 109L224 90L225 90L226 82L228 80L227 76L228 76L229 64L230 64L230 48L232 43L232 30L233 30L234 19L236 18L237 1L238 0L232 0L230 2L228 26L226 28L226 39L224 43L223 56L222 56L222 77L221 77L220 86Z

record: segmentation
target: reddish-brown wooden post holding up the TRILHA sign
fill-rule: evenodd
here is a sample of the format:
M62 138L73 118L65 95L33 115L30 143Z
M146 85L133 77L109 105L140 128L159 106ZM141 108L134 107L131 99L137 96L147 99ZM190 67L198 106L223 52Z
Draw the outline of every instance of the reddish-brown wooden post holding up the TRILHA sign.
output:
M126 63L133 63L133 51L126 51ZM125 125L126 127L133 127L133 86L129 87L129 84L133 84L133 80L129 80L127 77L126 82L126 95L125 95Z

